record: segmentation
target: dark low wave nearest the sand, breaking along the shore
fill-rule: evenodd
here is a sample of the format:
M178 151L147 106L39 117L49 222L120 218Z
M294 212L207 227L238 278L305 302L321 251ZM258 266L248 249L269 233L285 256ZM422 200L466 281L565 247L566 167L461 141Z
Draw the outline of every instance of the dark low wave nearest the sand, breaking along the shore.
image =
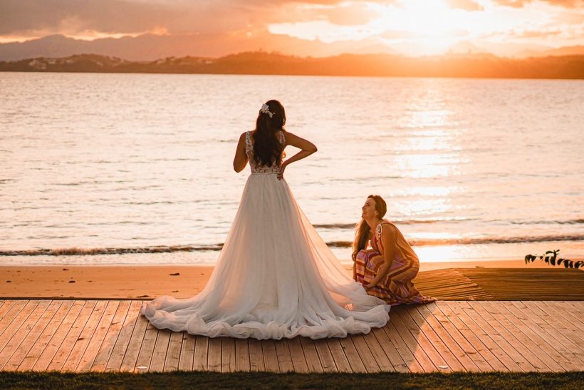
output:
M582 241L584 235L547 235L536 237L469 237L469 238L437 238L408 240L410 245L437 246L437 245L476 245L476 244L516 244L521 242L551 242L551 241ZM330 241L329 247L351 247L352 241ZM38 250L2 250L0 256L71 256L71 255L123 255L127 253L162 253L162 252L199 252L219 251L223 244L217 245L157 245L155 247L105 247L105 248L57 248Z

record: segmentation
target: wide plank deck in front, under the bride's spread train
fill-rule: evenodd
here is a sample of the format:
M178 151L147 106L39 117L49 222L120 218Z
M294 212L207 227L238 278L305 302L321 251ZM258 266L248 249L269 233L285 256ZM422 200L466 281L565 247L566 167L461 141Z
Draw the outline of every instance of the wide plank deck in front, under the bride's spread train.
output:
M478 284L478 283L477 283ZM345 339L209 339L158 330L137 300L0 300L12 371L584 371L583 301L439 301L394 307Z

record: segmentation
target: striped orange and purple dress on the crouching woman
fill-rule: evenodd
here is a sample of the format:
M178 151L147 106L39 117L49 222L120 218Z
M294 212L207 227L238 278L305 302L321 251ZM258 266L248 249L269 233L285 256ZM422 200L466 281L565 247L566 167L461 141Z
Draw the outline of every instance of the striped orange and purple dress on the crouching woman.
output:
M399 229L391 222L383 220L375 230L371 240L372 249L360 250L355 260L355 279L361 284L370 283L375 279L377 270L384 262L381 231L383 225L390 225L395 229L395 258L392 261L387 276L381 279L375 287L367 291L374 297L385 300L387 304L422 304L434 302L432 297L424 297L414 287L412 279L419 270L419 260L405 240Z

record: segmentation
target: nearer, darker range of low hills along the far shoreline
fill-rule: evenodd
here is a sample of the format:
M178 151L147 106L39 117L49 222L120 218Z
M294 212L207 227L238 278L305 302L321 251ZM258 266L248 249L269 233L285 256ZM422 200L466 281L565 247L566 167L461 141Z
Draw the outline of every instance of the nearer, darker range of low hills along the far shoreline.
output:
M0 71L584 79L584 55L513 59L492 54L421 58L391 54L343 54L303 58L255 51L219 58L186 56L156 61L127 61L118 57L81 54L64 58L1 61Z

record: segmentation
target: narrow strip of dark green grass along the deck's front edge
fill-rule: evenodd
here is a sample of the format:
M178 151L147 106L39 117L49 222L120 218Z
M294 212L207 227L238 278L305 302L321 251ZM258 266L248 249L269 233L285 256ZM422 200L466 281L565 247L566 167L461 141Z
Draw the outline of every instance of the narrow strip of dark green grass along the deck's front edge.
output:
M584 371L568 373L274 374L268 372L0 372L1 389L584 389Z

